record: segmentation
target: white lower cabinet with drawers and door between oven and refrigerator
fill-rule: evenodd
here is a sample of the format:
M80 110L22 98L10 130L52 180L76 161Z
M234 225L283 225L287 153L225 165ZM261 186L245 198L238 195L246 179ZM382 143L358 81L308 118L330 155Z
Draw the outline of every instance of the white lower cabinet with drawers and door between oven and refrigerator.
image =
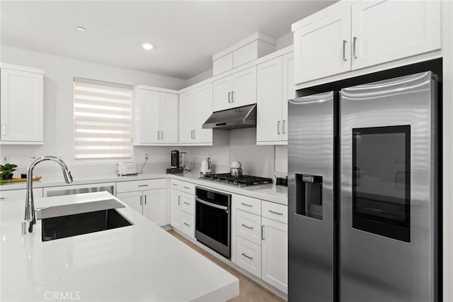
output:
M236 264L288 292L287 206L233 195Z

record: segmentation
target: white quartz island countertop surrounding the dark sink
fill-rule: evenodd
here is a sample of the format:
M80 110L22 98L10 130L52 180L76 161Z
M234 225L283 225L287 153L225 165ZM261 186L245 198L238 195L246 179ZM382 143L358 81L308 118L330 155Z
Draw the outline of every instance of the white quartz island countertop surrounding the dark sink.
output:
M35 208L110 198L36 198ZM22 199L0 202L0 300L226 301L239 294L238 279L217 264L129 206L117 211L133 225L42 242L41 220L21 235Z

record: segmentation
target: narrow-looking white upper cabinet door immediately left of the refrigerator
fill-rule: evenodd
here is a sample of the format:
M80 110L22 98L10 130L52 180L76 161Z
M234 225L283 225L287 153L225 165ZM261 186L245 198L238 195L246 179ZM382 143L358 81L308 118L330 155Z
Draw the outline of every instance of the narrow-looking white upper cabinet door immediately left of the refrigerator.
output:
M283 89L282 89L282 140L288 140L288 100L296 97L294 85L294 52L282 56Z

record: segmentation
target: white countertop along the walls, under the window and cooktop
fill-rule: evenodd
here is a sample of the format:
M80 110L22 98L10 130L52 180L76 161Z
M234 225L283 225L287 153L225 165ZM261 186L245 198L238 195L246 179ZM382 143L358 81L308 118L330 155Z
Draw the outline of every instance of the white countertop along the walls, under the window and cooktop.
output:
M200 172L187 172L184 175L180 174L165 174L163 172L151 172L144 173L134 176L127 177L117 177L113 175L95 175L89 177L80 177L77 174L72 175L74 182L71 185L75 184L95 184L103 182L117 182L117 181L133 181L133 180L143 180L143 179L161 179L161 178L173 178L182 181L188 181L193 184L200 186L205 186L208 188L218 189L222 191L227 191L234 194L241 194L245 196L250 196L253 198L263 199L265 201L272 201L275 203L281 203L287 205L287 187L285 186L276 186L275 184L263 184L258 186L247 186L239 188L230 184L220 184L215 181L198 179L200 177ZM63 177L60 174L55 175L54 179L42 179L40 181L33 181L33 188L42 188L49 186L64 186L66 185L63 181ZM22 183L11 183L4 184L0 186L1 190L15 190L15 189L25 189L25 182Z

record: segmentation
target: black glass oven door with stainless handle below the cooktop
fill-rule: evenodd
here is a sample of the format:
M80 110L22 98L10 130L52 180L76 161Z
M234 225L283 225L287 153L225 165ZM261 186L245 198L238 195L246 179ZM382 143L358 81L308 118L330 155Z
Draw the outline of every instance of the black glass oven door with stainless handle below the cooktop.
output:
M230 258L230 211L199 197L195 198L195 238L220 255Z

